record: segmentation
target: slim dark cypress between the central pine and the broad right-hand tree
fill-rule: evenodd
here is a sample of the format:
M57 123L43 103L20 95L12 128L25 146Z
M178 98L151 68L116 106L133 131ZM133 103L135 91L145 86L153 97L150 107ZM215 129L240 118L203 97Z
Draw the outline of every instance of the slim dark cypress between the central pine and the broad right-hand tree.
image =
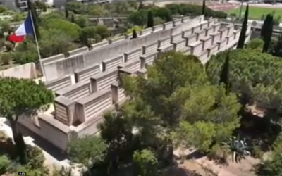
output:
M225 62L223 64L222 70L221 70L221 76L219 80L219 84L223 83L225 85L226 94L229 94L231 89L231 84L229 82L229 52L225 58Z

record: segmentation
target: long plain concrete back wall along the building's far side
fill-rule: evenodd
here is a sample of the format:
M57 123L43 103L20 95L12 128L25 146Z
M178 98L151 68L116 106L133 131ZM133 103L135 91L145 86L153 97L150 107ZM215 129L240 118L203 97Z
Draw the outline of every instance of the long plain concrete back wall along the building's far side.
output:
M88 65L95 63L101 64L102 61L113 58L128 51L135 49L142 49L142 46L157 42L159 39L164 39L177 34L185 29L200 24L204 20L204 16L197 18L180 18L173 22L164 23L162 27L159 25L152 28L147 28L140 32L137 39L130 39L128 36L120 37L118 39L109 39L108 42L104 41L99 44L92 45L91 49L83 47L69 51L65 56L59 54L49 58L43 58L42 64L44 65L44 73L46 80L55 80L59 77L72 75L75 70L85 68ZM114 40L114 41L113 41Z

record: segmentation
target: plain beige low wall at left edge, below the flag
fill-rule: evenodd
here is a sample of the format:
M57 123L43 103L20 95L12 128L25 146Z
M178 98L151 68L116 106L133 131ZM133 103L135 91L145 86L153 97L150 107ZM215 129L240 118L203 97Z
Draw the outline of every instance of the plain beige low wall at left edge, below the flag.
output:
M26 63L13 68L0 71L0 77L17 77L26 79L36 79L37 71L35 63Z

